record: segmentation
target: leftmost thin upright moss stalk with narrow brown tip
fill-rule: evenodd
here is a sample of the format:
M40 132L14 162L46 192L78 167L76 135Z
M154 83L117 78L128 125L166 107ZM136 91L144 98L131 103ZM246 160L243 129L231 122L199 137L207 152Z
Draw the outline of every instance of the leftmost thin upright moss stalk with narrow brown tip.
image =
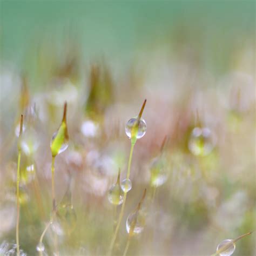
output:
M18 162L17 162L17 183L16 183L16 198L17 198L17 218L16 218L16 244L17 244L17 255L19 256L19 179L20 172L19 167L21 164L21 137L23 131L23 115L21 115L21 123L19 126L19 138L18 138Z

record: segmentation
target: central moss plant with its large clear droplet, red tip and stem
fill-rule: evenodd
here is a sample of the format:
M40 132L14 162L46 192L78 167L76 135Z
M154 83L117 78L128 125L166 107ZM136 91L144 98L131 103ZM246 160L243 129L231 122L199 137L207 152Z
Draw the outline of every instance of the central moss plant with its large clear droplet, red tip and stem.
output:
M145 124L144 120L142 120L142 113L143 113L145 105L146 105L146 99L144 100L144 103L142 105L142 108L140 109L138 117L130 119L126 124L126 134L131 139L131 150L130 150L130 156L129 156L129 161L128 161L126 179L129 179L129 177L130 177L132 154L133 154L134 145L135 145L137 139L142 138L144 136L145 132L146 132L145 127L143 127L144 128L143 132L140 131L142 125ZM118 231L119 231L119 228L120 228L120 224L121 224L121 221L122 221L122 218L123 218L123 215L124 215L126 196L127 196L127 192L124 192L123 205L122 205L122 208L121 208L121 211L120 211L120 214L119 214L116 230L114 231L114 235L113 235L113 238L111 240L110 247L109 247L109 252L107 253L107 255L111 255L112 250L113 250L113 246L114 246L114 242L116 241L116 238L117 238L117 234L118 234Z

